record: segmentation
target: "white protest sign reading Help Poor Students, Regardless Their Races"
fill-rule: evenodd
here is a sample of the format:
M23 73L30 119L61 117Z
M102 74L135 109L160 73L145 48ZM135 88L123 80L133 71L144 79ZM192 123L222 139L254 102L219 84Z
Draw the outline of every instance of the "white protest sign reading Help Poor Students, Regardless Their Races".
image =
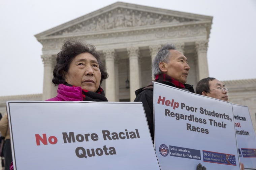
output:
M155 149L161 170L239 170L232 104L154 82Z

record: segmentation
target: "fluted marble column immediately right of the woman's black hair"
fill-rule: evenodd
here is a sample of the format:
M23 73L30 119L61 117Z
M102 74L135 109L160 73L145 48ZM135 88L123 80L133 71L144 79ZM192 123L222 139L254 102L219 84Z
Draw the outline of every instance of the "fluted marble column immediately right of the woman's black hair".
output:
M115 83L115 50L103 50L105 56L108 78L106 81L106 98L109 102L116 101L116 83Z

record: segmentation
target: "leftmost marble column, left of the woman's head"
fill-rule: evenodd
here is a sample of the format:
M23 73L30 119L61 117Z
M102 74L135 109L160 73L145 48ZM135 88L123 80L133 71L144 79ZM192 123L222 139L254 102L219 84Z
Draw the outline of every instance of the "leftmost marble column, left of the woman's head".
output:
M47 100L52 98L52 77L53 77L53 72L52 72L52 55L51 54L44 54L41 55L42 61L43 61L43 96L42 100Z

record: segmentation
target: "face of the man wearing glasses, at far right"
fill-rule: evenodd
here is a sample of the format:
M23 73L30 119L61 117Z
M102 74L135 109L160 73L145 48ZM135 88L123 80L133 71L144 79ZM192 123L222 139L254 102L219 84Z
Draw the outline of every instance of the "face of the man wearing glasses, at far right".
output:
M205 93L205 96L228 101L227 91L226 90L223 91L223 88L225 88L225 85L222 82L220 82L217 79L209 81L209 88L210 90L207 91L207 93Z

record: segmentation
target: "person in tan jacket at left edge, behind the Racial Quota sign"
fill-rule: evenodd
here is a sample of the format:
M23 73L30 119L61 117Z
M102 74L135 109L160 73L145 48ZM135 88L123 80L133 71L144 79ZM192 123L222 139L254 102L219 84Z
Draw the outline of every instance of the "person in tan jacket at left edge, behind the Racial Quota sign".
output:
M5 160L5 170L9 170L9 166L12 162L12 154L11 154L11 143L10 143L10 130L8 124L8 117L5 114L0 120L0 132L2 136L4 136L4 160Z

